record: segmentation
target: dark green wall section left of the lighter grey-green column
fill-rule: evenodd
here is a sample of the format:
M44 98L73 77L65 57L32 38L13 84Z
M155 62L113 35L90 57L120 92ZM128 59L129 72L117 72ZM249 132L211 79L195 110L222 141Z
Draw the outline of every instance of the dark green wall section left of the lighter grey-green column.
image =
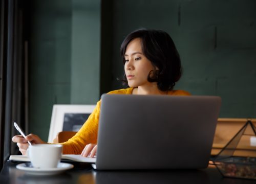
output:
M53 104L70 103L71 1L31 1L29 131L47 141Z

